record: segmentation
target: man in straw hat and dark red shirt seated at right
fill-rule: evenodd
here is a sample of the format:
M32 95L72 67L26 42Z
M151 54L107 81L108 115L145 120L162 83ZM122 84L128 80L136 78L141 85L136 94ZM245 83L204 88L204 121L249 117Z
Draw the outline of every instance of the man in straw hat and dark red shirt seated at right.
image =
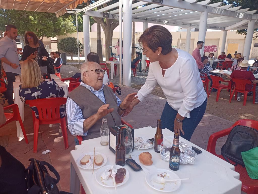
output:
M250 66L248 64L248 60L243 60L240 64L238 64L241 69L238 71L233 71L231 75L228 75L227 73L223 73L223 75L227 76L229 79L237 78L237 79L244 79L244 80L250 80L253 83L258 83L258 80L255 80L254 74L251 71L247 71L247 68ZM245 86L246 90L251 90L252 85L246 84ZM241 93L237 93L237 101L241 100ZM255 87L255 104L258 104L258 86Z

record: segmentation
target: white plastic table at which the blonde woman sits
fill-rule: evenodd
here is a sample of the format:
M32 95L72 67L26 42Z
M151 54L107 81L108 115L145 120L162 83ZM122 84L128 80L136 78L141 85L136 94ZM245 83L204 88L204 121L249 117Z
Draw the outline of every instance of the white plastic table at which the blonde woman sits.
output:
M64 97L67 97L67 95L68 95L68 85L66 83L62 82L60 80L60 78L56 75L51 74L51 78L54 79L55 82L57 82L58 86L63 88L63 90L65 91L65 96ZM21 119L24 121L24 106L23 106L24 104L21 101L20 95L19 95L19 86L21 84L20 76L19 75L15 76L15 79L16 79L16 82L13 82L14 103L18 105L20 115L21 115ZM19 121L16 121L16 128L17 128L17 137L18 138L23 138L23 133L22 133Z

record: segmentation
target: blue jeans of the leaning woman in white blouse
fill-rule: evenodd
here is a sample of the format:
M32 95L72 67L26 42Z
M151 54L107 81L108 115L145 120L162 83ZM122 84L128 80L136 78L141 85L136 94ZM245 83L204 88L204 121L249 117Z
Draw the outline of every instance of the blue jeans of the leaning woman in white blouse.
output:
M202 105L200 105L197 108L194 108L190 112L190 119L185 118L183 120L184 135L180 132L181 137L190 141L191 136L192 136L195 128L197 127L197 125L199 124L201 119L203 118L203 115L204 115L205 109L206 109L206 105L207 105L207 98ZM174 120L176 118L177 113L178 112L176 110L174 110L166 102L165 107L164 107L163 112L162 112L162 115L161 115L161 118L160 118L162 120L162 129L167 128L171 131L174 131Z

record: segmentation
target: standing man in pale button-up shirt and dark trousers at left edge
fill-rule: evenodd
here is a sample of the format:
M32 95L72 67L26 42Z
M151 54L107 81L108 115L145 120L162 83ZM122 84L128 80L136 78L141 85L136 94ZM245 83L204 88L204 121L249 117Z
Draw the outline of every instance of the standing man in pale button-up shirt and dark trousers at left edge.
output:
M19 56L15 39L18 36L17 27L7 25L5 27L7 35L0 40L0 59L3 61L3 68L6 73L8 85L5 93L5 98L9 105L13 102L13 82L15 76L21 73L19 64Z

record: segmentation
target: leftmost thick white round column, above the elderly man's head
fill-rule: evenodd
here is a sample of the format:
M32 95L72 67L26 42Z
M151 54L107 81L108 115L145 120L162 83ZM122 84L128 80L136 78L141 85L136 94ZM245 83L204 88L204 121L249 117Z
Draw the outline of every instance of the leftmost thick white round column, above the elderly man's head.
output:
M82 16L82 22L83 22L84 57L86 59L87 55L90 53L90 17L85 14Z

